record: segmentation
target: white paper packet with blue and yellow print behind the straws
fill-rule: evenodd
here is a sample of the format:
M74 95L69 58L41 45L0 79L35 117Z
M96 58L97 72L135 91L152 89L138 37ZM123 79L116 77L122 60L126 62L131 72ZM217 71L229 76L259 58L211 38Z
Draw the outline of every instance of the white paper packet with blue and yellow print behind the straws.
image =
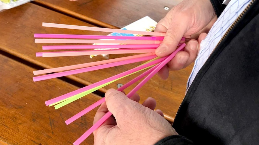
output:
M155 29L157 22L151 19L149 16L145 16L121 29L123 30L136 30L136 31L148 31L151 32ZM139 34L127 34L127 33L110 33L108 36L143 36ZM105 39L102 39L105 40ZM114 40L114 39L106 39L106 40ZM116 45L116 44L105 44L105 43L94 43L93 45ZM119 48L110 48L110 49L119 49ZM94 49L94 50L103 50L102 48ZM107 48L106 48L107 50ZM96 55L90 55L90 58L95 57ZM109 54L103 54L103 57L106 59L109 58Z

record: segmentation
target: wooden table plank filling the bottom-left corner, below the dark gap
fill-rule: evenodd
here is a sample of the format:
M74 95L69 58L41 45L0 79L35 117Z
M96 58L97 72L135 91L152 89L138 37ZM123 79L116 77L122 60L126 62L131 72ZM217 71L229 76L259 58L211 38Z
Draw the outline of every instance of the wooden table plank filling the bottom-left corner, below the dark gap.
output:
M1 54L0 67L0 144L72 144L92 126L97 108L68 126L64 121L101 97L90 94L55 110L44 101L77 87L59 79L34 83L35 69ZM93 135L83 144L93 144Z

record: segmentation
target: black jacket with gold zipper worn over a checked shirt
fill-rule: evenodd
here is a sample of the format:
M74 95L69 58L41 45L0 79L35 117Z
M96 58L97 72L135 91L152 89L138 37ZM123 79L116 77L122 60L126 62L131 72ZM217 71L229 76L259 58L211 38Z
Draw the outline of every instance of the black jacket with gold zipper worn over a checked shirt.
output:
M224 10L211 0L217 16ZM156 145L259 144L259 0L252 0L187 91L173 127Z

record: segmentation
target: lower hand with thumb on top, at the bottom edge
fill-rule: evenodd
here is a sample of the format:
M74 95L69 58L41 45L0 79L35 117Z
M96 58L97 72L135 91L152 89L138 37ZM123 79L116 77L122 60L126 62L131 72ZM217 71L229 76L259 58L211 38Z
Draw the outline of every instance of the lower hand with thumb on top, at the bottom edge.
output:
M154 111L156 101L153 98L142 105L139 100L138 94L129 99L122 92L109 89L105 93L106 103L96 112L94 123L108 110L114 117L109 117L93 132L94 144L155 144L167 136L178 135L164 119L163 112Z

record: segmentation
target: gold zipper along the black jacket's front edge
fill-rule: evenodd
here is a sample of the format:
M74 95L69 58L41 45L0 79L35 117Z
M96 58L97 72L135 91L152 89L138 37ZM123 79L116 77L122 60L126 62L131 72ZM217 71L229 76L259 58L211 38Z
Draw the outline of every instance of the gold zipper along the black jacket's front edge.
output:
M236 23L239 22L239 20L243 17L243 15L246 13L246 11L251 7L251 5L254 3L254 1L255 1L255 0L252 0L252 1L248 4L248 6L245 7L245 10L242 11L242 13L236 18L236 20L235 20L235 21L233 22L233 24L230 26L230 28L228 28L228 30L227 30L226 33L223 35L223 37L220 39L220 41L219 41L218 44L215 46L215 48L212 50L212 52L215 51L215 49L218 47L218 45L227 37L228 33L234 28L234 26L236 25ZM211 54L212 54L212 52L211 52ZM209 55L209 57L211 56L211 54ZM209 57L208 57L208 58L209 58ZM208 58L207 58L207 60L208 60ZM187 92L186 92L186 94L187 94ZM186 94L185 94L185 96L186 96ZM185 98L185 96L184 96L184 98ZM183 100L184 100L184 98L183 98ZM183 103L183 100L182 100L180 106L178 107L178 110L177 110L177 112L176 112L176 114L175 114L175 117L177 116L177 114L178 114L178 112L179 112L179 109L180 109L180 107L181 107L181 105L182 105L182 103Z

